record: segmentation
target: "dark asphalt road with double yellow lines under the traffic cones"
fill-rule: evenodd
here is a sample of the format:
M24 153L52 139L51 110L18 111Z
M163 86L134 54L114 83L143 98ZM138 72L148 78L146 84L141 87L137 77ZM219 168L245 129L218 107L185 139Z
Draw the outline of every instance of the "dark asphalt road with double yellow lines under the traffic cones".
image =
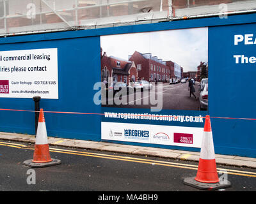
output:
M28 184L31 168L22 162L32 159L33 147L0 141L0 191L202 191L183 184L198 163L61 147L50 147L61 164L33 168L35 184ZM256 191L255 169L217 167L232 184L221 191Z

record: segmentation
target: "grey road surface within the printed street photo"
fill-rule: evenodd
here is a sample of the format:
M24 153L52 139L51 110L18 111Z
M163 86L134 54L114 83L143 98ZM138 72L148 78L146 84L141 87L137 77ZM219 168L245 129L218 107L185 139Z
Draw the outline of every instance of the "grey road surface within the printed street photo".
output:
M119 108L150 108L161 107L165 110L199 110L200 91L198 84L194 85L195 96L189 97L188 83L186 84L163 84L163 89L156 85L152 91L136 91L129 95L123 95L115 100L108 99L108 105L104 107L119 107ZM106 103L106 101L105 101Z

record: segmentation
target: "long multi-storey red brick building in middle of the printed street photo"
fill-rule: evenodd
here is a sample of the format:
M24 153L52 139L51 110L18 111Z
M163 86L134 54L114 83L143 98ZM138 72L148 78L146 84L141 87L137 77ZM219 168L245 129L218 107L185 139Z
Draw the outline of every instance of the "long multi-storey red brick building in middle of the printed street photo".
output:
M171 61L163 61L151 53L141 54L135 51L128 56L129 61L134 62L138 70L138 80L147 80L148 82L168 82L171 74ZM173 65L174 70L174 65ZM174 72L174 71L173 71ZM174 75L174 74L173 74Z

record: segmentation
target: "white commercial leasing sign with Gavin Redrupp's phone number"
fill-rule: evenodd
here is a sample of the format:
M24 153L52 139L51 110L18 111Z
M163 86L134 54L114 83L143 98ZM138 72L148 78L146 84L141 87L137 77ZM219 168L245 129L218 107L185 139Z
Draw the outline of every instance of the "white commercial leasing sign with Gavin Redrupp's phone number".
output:
M0 98L58 99L58 49L0 52Z

